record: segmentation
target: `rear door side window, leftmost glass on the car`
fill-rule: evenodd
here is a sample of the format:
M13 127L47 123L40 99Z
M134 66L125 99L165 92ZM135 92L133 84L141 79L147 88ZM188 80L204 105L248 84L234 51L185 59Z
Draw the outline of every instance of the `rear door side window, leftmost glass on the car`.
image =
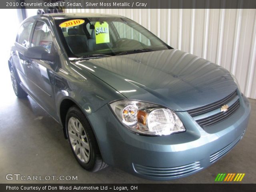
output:
M26 22L22 24L22 26L20 26L20 29L18 31L18 35L16 38L16 41L19 44L22 44L25 47L29 46L28 38L29 38L30 31L32 29L32 26L33 26L33 22Z

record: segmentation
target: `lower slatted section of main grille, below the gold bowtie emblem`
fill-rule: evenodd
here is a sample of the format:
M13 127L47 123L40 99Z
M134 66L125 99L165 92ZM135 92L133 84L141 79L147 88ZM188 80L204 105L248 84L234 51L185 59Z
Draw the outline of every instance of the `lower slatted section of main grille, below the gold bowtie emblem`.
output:
M228 110L226 112L219 112L212 116L209 116L209 117L206 117L206 118L203 118L200 120L196 120L196 122L202 127L212 126L218 122L225 120L229 116L231 116L234 112L236 112L236 110L239 108L239 106L240 106L240 102L238 99L232 106L230 106L228 108Z

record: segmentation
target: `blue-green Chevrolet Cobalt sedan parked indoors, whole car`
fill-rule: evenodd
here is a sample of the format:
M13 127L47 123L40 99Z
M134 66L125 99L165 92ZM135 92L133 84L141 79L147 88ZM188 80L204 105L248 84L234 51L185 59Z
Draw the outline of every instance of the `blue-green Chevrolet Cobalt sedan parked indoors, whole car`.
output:
M248 124L250 104L232 74L122 16L27 18L8 65L15 94L62 124L89 171L188 176L229 152Z

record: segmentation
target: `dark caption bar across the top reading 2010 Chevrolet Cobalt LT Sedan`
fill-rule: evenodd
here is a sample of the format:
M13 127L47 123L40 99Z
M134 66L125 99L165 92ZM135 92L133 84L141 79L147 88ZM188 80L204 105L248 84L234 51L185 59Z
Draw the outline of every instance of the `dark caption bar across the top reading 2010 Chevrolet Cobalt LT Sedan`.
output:
M256 0L1 0L0 8L47 9L255 9Z

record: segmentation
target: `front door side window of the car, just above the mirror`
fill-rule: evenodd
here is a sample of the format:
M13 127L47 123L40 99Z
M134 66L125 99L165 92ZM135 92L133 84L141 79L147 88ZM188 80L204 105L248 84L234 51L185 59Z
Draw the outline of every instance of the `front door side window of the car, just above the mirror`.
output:
M46 48L49 53L52 52L52 37L50 30L45 22L36 22L31 46L42 46Z

